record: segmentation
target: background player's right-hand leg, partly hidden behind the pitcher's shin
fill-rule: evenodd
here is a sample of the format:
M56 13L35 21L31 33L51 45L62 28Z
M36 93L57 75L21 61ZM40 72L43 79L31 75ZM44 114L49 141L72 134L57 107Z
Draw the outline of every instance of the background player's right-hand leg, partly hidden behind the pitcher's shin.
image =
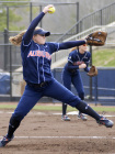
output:
M78 92L78 96L81 98L81 100L84 100L84 88L79 72L72 77L72 84ZM78 112L78 118L82 119L83 121L87 121L85 114L83 114L81 111Z

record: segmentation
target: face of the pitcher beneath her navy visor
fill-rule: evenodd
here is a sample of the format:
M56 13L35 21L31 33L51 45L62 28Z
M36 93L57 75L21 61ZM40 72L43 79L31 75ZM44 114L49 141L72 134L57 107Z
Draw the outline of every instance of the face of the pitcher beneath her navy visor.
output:
M45 35L36 34L36 35L33 36L33 40L34 40L35 43L45 44L46 36Z

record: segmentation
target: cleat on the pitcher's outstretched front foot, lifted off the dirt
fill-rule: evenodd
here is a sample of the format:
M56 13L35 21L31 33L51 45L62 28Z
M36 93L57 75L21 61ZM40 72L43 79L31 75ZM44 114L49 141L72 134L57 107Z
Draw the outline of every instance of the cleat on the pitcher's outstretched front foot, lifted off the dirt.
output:
M114 125L114 122L112 120L108 120L102 116L101 116L100 120L97 120L96 122L101 125L105 125L106 128L112 128Z

